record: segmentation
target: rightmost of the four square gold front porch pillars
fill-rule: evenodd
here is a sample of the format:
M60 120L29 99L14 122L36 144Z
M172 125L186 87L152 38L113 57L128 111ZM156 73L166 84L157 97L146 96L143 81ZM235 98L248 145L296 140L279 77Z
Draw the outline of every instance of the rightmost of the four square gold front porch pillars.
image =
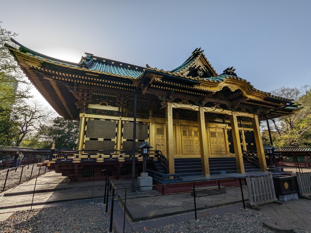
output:
M265 152L263 150L262 139L261 139L261 135L260 135L259 122L258 122L258 116L257 115L254 115L254 117L252 117L252 123L253 123L253 129L254 129L254 135L255 135L256 148L257 148L257 154L258 154L260 169L261 169L261 171L267 171L266 156L265 156Z

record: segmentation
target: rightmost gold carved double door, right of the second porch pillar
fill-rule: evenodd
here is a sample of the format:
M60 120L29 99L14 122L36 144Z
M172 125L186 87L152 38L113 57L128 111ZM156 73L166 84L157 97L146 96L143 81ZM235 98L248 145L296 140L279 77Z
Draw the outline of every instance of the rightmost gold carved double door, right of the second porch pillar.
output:
M224 129L209 127L211 154L226 154Z

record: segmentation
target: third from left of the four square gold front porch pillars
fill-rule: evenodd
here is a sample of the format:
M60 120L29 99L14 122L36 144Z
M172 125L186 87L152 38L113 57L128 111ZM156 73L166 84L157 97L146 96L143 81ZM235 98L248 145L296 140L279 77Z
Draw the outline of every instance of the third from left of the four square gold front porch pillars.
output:
M236 119L236 112L232 112L232 115L230 115L230 122L231 122L231 129L232 129L236 166L238 168L238 173L243 174L245 173L245 170L244 170L238 121Z

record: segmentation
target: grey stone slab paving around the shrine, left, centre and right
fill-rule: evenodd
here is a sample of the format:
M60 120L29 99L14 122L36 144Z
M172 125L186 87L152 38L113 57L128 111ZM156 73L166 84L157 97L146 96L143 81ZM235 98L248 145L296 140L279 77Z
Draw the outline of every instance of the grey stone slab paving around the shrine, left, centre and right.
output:
M31 203L35 180L30 180L13 189L7 190L0 194L2 208L0 209L0 221L7 218L10 212L16 210L30 209L23 207ZM52 183L52 184L47 184ZM117 187L130 187L130 180L116 180L114 184ZM54 191L49 191L54 189ZM46 208L60 205L70 205L76 203L91 202L92 192L93 201L103 202L104 182L95 181L83 183L66 183L66 177L59 176L54 172L48 172L44 176L38 178L36 190L38 193L34 195L35 206L33 208ZM120 190L122 191L122 190ZM130 191L128 189L127 191ZM247 199L247 189L243 187L244 198ZM157 191L152 191L150 195L156 195ZM139 197L137 194L128 192L127 198ZM146 194L143 194L146 195ZM124 197L124 193L120 192L120 198ZM197 197L198 217L220 214L223 212L232 212L243 208L241 202L240 187L227 188L225 194ZM15 206L16 208L12 208ZM109 202L109 207L111 203ZM164 196L141 197L137 199L127 200L126 203L129 215L134 220L142 218L156 218L165 216L161 219L146 220L145 222L132 222L126 220L126 231L132 232L140 229L150 229L151 227L162 226L172 222L182 222L194 219L194 199L190 193L170 194ZM225 207L224 207L225 206ZM208 209L217 207L214 209ZM123 202L115 202L114 205L114 223L118 232L123 231ZM258 214L279 219L281 221L293 224L311 232L311 200L299 199L278 205L276 203L260 206ZM177 215L176 215L177 214Z

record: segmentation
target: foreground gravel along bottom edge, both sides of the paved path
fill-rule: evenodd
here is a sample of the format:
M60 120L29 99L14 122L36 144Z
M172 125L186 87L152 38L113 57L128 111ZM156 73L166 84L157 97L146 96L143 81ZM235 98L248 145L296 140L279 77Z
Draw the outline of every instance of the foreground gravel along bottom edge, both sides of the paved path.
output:
M262 226L264 219L271 217L260 212L242 209L221 215L207 216L196 220L173 223L136 232L267 232L273 233ZM18 211L12 213L0 226L0 232L109 232L109 215L105 213L102 203L67 205ZM295 233L304 233L299 227L293 226Z

